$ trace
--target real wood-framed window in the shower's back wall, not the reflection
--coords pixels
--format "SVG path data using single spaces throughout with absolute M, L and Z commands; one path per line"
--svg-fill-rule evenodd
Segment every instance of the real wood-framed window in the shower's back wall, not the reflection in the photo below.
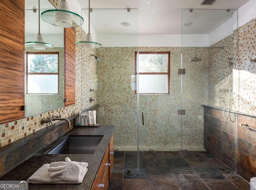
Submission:
M 137 93 L 137 90 L 140 94 L 170 93 L 169 51 L 135 52 L 135 75 L 137 75 L 137 71 L 139 77 L 138 88 L 135 90 L 135 93 Z

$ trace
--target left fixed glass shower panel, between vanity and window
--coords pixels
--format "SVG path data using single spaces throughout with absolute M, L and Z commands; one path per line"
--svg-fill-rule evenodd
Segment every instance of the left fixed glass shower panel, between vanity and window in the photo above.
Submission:
M 108 18 L 109 22 L 103 22 L 102 18 Z M 98 123 L 116 126 L 114 157 L 123 163 L 124 156 L 126 159 L 124 168 L 117 168 L 114 172 L 126 173 L 129 170 L 134 173 L 138 171 L 137 79 L 134 72 L 134 53 L 138 51 L 138 10 L 93 9 L 90 19 L 97 33 L 97 42 L 102 44 L 102 48 L 93 51 L 100 59 L 96 91 Z M 123 26 L 122 22 L 129 22 L 130 26 Z

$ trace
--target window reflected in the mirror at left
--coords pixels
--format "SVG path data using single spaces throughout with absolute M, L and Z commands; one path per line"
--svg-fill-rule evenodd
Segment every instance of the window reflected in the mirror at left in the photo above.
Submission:
M 27 93 L 59 93 L 59 52 L 27 52 Z

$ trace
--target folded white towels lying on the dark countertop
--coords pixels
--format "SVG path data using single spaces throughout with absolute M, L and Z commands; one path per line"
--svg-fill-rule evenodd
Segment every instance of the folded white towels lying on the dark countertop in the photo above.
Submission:
M 69 159 L 69 158 L 68 158 Z M 67 159 L 67 161 L 68 161 Z M 66 160 L 66 159 L 65 159 Z M 70 160 L 70 159 L 69 159 Z M 54 163 L 54 162 L 52 162 Z M 52 164 L 51 163 L 51 164 Z M 64 164 L 64 163 L 58 163 Z M 60 166 L 57 166 L 56 162 L 53 164 L 54 166 L 60 169 Z M 86 162 L 76 162 L 69 161 L 66 162 L 62 167 L 62 170 L 56 170 L 57 168 L 51 168 L 50 170 L 54 170 L 52 172 L 48 172 L 50 168 L 50 164 L 42 165 L 30 178 L 28 178 L 28 182 L 30 183 L 82 183 L 86 172 L 88 171 L 88 163 Z

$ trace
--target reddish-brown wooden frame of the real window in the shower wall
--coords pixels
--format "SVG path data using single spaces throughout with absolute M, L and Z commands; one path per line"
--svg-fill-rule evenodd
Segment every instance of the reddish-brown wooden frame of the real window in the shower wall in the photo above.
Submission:
M 167 72 L 165 73 L 137 73 L 137 55 L 140 54 L 167 54 Z M 167 75 L 167 93 L 139 93 L 140 95 L 166 95 L 170 94 L 170 51 L 135 51 L 135 75 Z M 135 85 L 135 94 L 137 94 L 137 85 Z

